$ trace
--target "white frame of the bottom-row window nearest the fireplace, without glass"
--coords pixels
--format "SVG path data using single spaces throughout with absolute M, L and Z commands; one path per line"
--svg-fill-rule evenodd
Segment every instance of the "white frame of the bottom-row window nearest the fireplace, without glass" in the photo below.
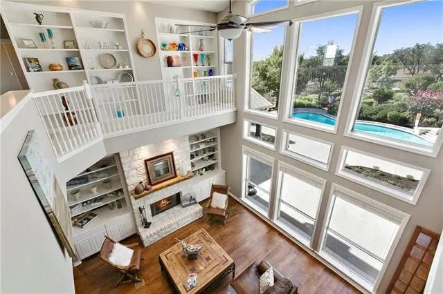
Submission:
M 267 164 L 271 166 L 271 186 L 269 188 L 269 207 L 268 211 L 265 211 L 262 207 L 257 206 L 255 203 L 251 202 L 249 199 L 246 198 L 246 173 L 247 173 L 247 157 L 252 157 L 253 159 L 262 162 L 263 164 Z M 249 206 L 257 210 L 259 213 L 262 214 L 264 217 L 269 218 L 269 215 L 271 213 L 271 205 L 272 205 L 272 195 L 273 195 L 273 173 L 274 173 L 274 158 L 265 155 L 263 153 L 260 153 L 256 150 L 253 150 L 252 148 L 248 148 L 247 146 L 242 145 L 242 200 L 246 202 Z

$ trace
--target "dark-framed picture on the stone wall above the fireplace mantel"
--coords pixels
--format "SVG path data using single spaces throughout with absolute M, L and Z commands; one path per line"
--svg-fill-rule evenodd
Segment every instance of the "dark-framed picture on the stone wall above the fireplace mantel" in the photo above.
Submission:
M 177 177 L 172 152 L 145 159 L 147 180 L 151 186 Z

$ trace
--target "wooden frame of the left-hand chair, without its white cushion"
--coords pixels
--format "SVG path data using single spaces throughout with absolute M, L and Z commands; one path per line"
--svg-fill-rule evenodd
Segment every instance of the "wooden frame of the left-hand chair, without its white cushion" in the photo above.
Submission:
M 105 236 L 105 242 L 103 242 L 102 248 L 100 249 L 100 258 L 105 260 L 105 262 L 107 262 L 114 268 L 117 268 L 118 271 L 120 271 L 116 287 L 120 284 L 128 282 L 143 282 L 143 279 L 138 277 L 138 271 L 140 271 L 140 263 L 141 260 L 143 260 L 143 258 L 141 258 L 141 250 L 140 249 L 134 250 L 134 253 L 132 253 L 131 262 L 129 263 L 128 266 L 118 266 L 109 261 L 109 255 L 111 254 L 112 249 L 114 248 L 114 244 L 116 243 L 117 242 L 111 239 L 110 237 Z M 138 244 L 137 243 L 130 244 L 126 247 L 132 247 L 135 245 Z

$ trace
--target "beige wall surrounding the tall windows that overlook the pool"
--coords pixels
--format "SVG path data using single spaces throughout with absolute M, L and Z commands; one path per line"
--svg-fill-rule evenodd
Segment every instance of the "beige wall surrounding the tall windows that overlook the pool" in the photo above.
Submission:
M 237 122 L 228 126 L 221 128 L 221 157 L 223 161 L 221 163 L 221 168 L 226 170 L 226 183 L 231 187 L 232 192 L 235 195 L 240 196 L 242 187 L 242 144 L 260 151 L 266 155 L 275 158 L 275 166 L 278 161 L 284 161 L 287 164 L 296 166 L 302 170 L 306 170 L 308 173 L 317 175 L 327 180 L 327 185 L 325 188 L 325 197 L 323 197 L 323 202 L 320 206 L 320 217 L 318 218 L 318 223 L 321 224 L 325 217 L 325 209 L 331 189 L 331 184 L 334 182 L 341 186 L 345 186 L 350 190 L 354 190 L 357 193 L 370 197 L 378 202 L 387 204 L 394 208 L 397 208 L 405 213 L 411 215 L 408 225 L 401 236 L 399 245 L 397 246 L 388 268 L 381 280 L 381 284 L 377 293 L 384 293 L 390 279 L 397 268 L 399 260 L 404 253 L 404 250 L 408 244 L 410 236 L 413 234 L 415 226 L 423 226 L 434 232 L 440 232 L 443 228 L 443 151 L 440 150 L 440 154 L 436 157 L 427 157 L 424 155 L 417 155 L 414 153 L 408 153 L 406 151 L 397 150 L 395 148 L 389 148 L 386 146 L 381 146 L 379 144 L 373 144 L 370 142 L 360 141 L 357 139 L 352 139 L 350 137 L 345 137 L 343 135 L 345 131 L 345 121 L 347 119 L 347 114 L 350 113 L 352 92 L 356 83 L 356 76 L 359 72 L 360 60 L 363 52 L 363 46 L 365 44 L 365 36 L 368 31 L 368 23 L 370 15 L 372 12 L 373 1 L 318 1 L 314 3 L 309 3 L 303 6 L 289 7 L 285 10 L 280 10 L 277 12 L 271 12 L 269 14 L 264 14 L 257 17 L 252 17 L 253 21 L 274 21 L 281 19 L 300 19 L 301 17 L 307 17 L 314 14 L 321 14 L 325 12 L 331 12 L 336 10 L 341 10 L 345 8 L 351 8 L 356 6 L 364 6 L 363 15 L 361 18 L 361 25 L 359 28 L 359 37 L 356 39 L 356 46 L 354 50 L 354 60 L 350 64 L 350 75 L 347 81 L 347 88 L 345 89 L 345 97 L 343 97 L 343 105 L 341 110 L 341 117 L 338 119 L 338 132 L 337 135 L 331 133 L 325 133 L 319 130 L 314 130 L 311 128 L 305 128 L 302 126 L 294 126 L 293 124 L 287 124 L 282 121 L 283 115 L 278 117 L 278 120 L 268 119 L 260 117 L 257 115 L 251 115 L 244 113 L 244 100 L 246 99 L 246 87 L 248 81 L 246 76 L 248 75 L 248 46 L 246 46 L 246 34 L 239 37 L 234 41 L 234 72 L 237 73 L 237 79 L 235 82 L 235 95 L 237 102 Z M 245 13 L 245 2 L 244 1 L 234 1 L 233 2 L 233 12 L 238 14 Z M 226 15 L 225 12 L 220 12 L 217 14 L 217 19 L 221 19 Z M 284 57 L 285 58 L 285 57 Z M 284 65 L 285 66 L 285 65 Z M 282 84 L 282 88 L 288 85 Z M 291 86 L 291 85 L 289 85 Z M 280 107 L 282 105 L 280 104 Z M 253 144 L 250 141 L 246 141 L 242 138 L 242 123 L 243 119 L 249 119 L 252 121 L 257 121 L 259 123 L 265 124 L 266 126 L 276 127 L 278 134 L 284 128 L 286 130 L 292 130 L 293 132 L 300 133 L 302 135 L 307 135 L 309 137 L 317 137 L 325 141 L 334 142 L 334 151 L 332 154 L 332 163 L 329 167 L 329 172 L 319 170 L 308 164 L 303 164 L 301 161 L 296 159 L 291 159 L 278 152 L 273 152 L 257 144 Z M 239 140 L 240 143 L 239 144 Z M 402 202 L 399 199 L 395 199 L 383 193 L 379 193 L 376 190 L 361 186 L 354 182 L 350 182 L 347 179 L 343 179 L 334 175 L 334 170 L 338 164 L 338 155 L 341 146 L 348 146 L 355 148 L 357 150 L 362 150 L 367 153 L 373 153 L 375 155 L 380 155 L 387 158 L 392 158 L 397 161 L 406 162 L 408 164 L 413 164 L 415 166 L 421 166 L 423 168 L 428 168 L 431 170 L 431 175 L 429 175 L 426 182 L 426 186 L 422 191 L 417 204 L 415 206 Z M 276 150 L 280 150 L 280 135 L 276 142 Z M 275 173 L 274 173 L 275 175 Z M 275 186 L 275 185 L 274 185 Z M 275 195 L 271 195 L 275 197 Z M 318 244 L 320 235 L 316 234 L 313 237 L 314 247 Z

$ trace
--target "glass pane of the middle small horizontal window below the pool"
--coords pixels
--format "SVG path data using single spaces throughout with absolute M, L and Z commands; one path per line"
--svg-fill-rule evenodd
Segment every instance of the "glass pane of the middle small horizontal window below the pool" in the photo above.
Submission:
M 295 135 L 293 133 L 286 134 L 287 141 L 286 146 L 284 147 L 285 151 L 289 152 L 290 155 L 297 159 L 309 159 L 308 163 L 314 164 L 315 166 L 320 166 L 321 168 L 327 167 L 329 153 L 332 148 L 331 144 Z

